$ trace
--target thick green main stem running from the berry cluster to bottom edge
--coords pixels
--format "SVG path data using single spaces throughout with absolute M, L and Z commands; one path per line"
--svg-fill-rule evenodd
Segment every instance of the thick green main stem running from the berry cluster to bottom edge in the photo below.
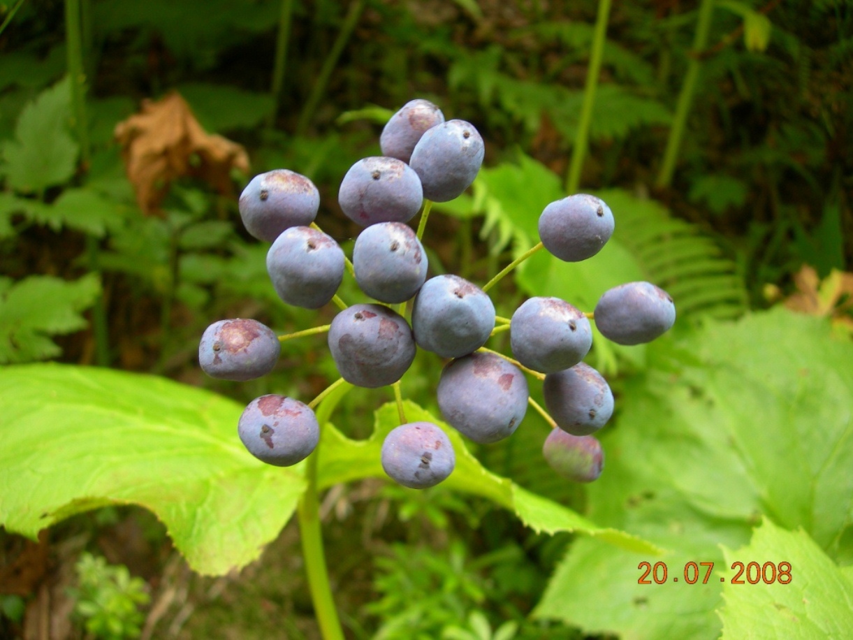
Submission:
M 322 404 L 317 410 L 317 422 L 320 430 L 326 428 L 328 418 L 334 406 L 352 388 L 342 379 L 327 388 Z M 323 395 L 323 394 L 321 394 Z M 319 398 L 319 396 L 318 396 Z M 302 538 L 302 554 L 305 558 L 305 573 L 308 575 L 308 586 L 311 592 L 311 602 L 314 603 L 314 613 L 317 624 L 320 625 L 323 640 L 344 640 L 344 631 L 340 627 L 338 611 L 334 607 L 332 588 L 328 583 L 326 555 L 322 544 L 320 527 L 320 503 L 317 497 L 317 458 L 320 455 L 320 445 L 305 461 L 305 493 L 299 500 L 297 515 L 299 517 L 299 535 Z

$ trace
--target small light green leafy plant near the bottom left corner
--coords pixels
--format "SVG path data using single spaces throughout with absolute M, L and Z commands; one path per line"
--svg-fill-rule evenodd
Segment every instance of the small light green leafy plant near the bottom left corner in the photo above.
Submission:
M 70 590 L 76 598 L 74 615 L 87 633 L 104 640 L 139 637 L 145 616 L 140 605 L 150 596 L 145 581 L 131 578 L 124 565 L 110 565 L 100 556 L 84 553 L 75 566 L 77 587 Z

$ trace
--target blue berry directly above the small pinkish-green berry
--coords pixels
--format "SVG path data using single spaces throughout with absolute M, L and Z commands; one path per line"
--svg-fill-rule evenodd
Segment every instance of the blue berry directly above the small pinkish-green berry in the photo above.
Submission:
M 589 364 L 546 375 L 543 395 L 554 422 L 572 435 L 595 433 L 613 414 L 610 386 Z

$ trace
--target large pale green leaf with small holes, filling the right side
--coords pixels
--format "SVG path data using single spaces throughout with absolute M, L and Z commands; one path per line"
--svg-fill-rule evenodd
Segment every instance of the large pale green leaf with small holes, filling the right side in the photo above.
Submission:
M 689 561 L 725 566 L 719 545 L 746 544 L 761 515 L 849 558 L 853 345 L 823 319 L 776 309 L 649 352 L 668 370 L 626 381 L 590 519 L 669 549 L 670 577 Z M 656 560 L 578 541 L 537 614 L 624 637 L 719 635 L 718 573 L 707 585 L 639 585 L 641 561 Z

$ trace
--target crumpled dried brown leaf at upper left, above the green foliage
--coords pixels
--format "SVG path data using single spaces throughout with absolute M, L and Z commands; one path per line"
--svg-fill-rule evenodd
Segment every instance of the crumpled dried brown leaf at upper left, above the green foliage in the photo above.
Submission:
M 146 215 L 160 212 L 170 184 L 179 177 L 200 178 L 230 195 L 231 171 L 249 172 L 246 149 L 202 129 L 177 91 L 157 102 L 143 101 L 141 112 L 119 122 L 114 134 L 136 202 Z

